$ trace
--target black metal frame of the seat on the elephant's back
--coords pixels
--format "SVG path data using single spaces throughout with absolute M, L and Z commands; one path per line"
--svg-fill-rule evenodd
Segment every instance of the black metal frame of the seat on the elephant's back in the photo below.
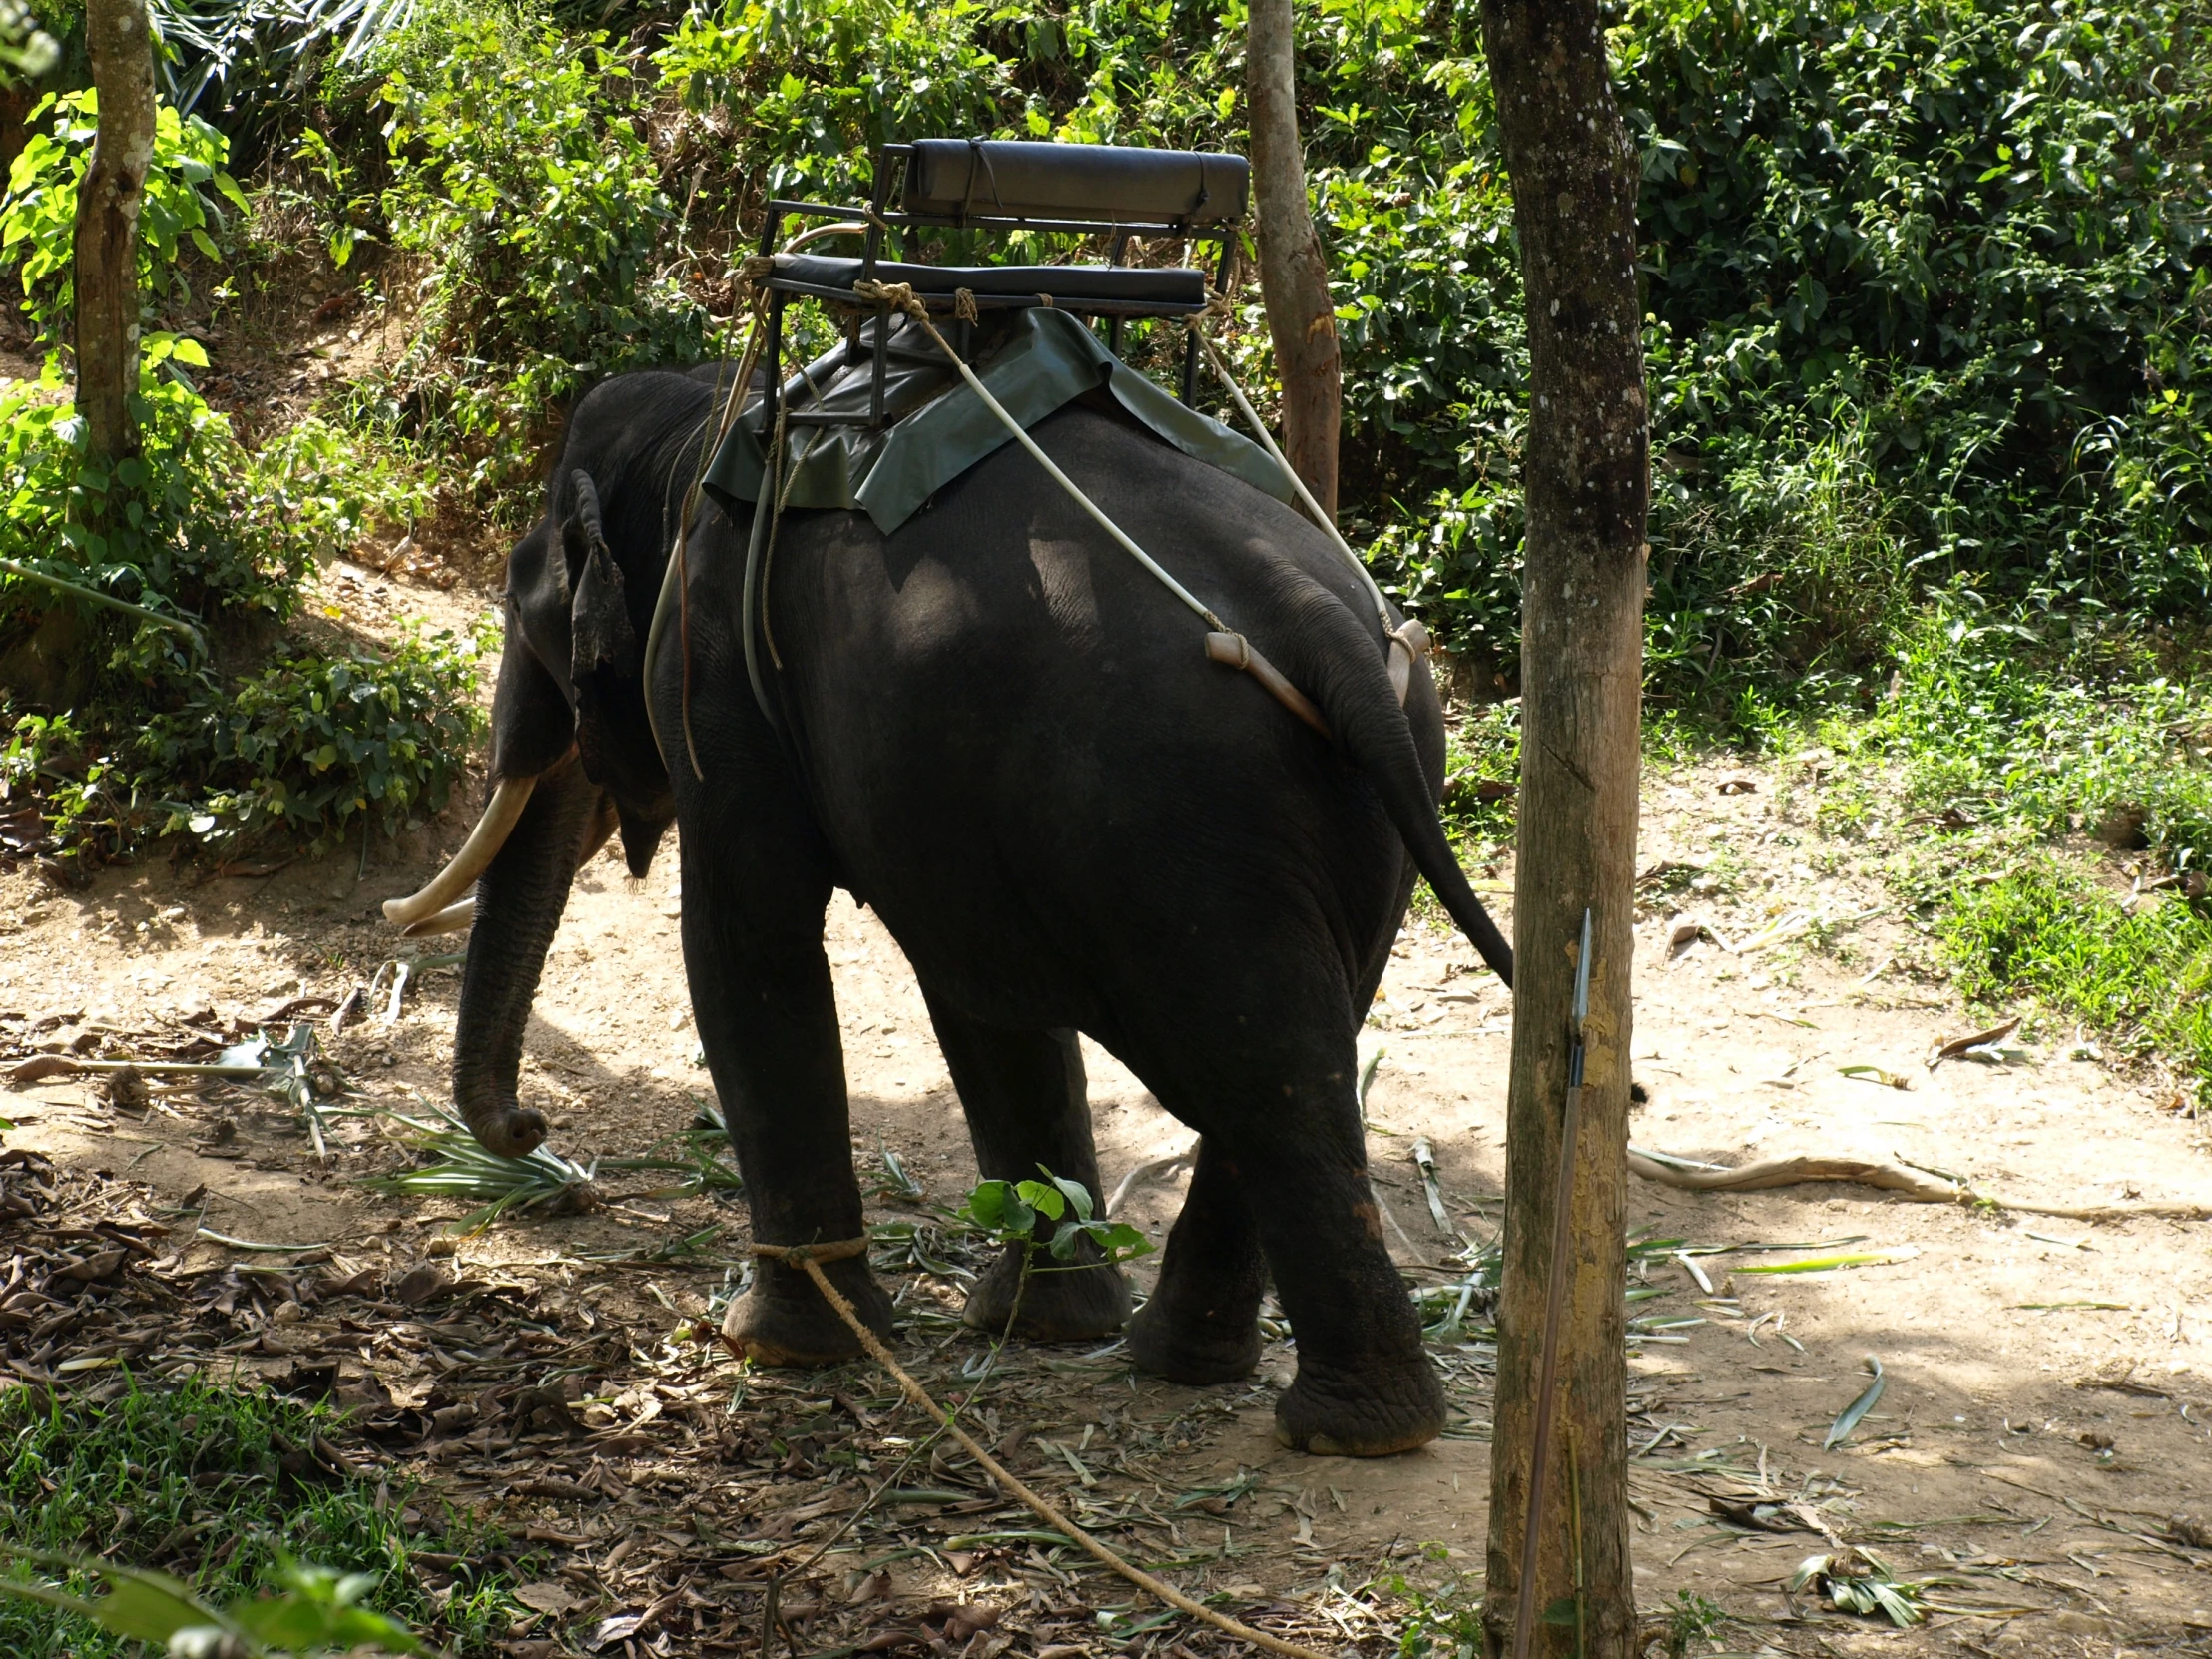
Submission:
M 891 232 L 909 232 L 916 228 L 947 228 L 947 230 L 1048 230 L 1048 232 L 1071 232 L 1071 234 L 1108 234 L 1106 265 L 1115 268 L 1128 252 L 1130 237 L 1183 237 L 1190 241 L 1214 241 L 1221 252 L 1217 259 L 1214 285 L 1223 292 L 1228 290 L 1230 261 L 1237 257 L 1237 232 L 1241 219 L 1225 219 L 1212 223 L 1186 223 L 1179 219 L 1084 219 L 1071 212 L 1071 217 L 1006 217 L 1006 215 L 982 215 L 982 212 L 960 212 L 960 215 L 933 215 L 933 212 L 902 212 L 891 208 L 891 184 L 894 175 L 905 177 L 907 164 L 914 159 L 911 144 L 885 144 L 876 150 L 876 181 L 869 192 L 867 208 L 838 208 L 827 201 L 799 201 L 772 197 L 768 201 L 768 212 L 761 223 L 761 254 L 774 254 L 776 228 L 783 223 L 785 215 L 812 217 L 812 219 L 856 219 L 865 215 L 865 248 L 860 254 L 860 272 L 856 281 L 874 281 L 876 265 L 885 257 L 885 237 Z M 902 261 L 920 263 L 920 261 Z M 1071 265 L 1068 270 L 1082 270 L 1082 265 Z M 863 305 L 849 292 L 834 288 L 814 288 L 810 283 L 783 281 L 770 274 L 763 283 L 768 290 L 768 330 L 761 343 L 761 361 L 768 369 L 768 387 L 761 403 L 761 434 L 774 431 L 776 425 L 776 403 L 783 396 L 783 307 L 792 299 L 821 299 L 841 305 Z M 931 310 L 951 312 L 956 301 L 951 296 L 925 294 L 922 303 Z M 1192 310 L 1186 305 L 1161 305 L 1146 301 L 1113 301 L 1113 303 L 1084 303 L 1082 299 L 1042 294 L 975 294 L 973 303 L 978 310 L 1029 310 L 1035 305 L 1053 305 L 1064 312 L 1075 312 L 1077 316 L 1106 316 L 1106 347 L 1119 356 L 1121 354 L 1121 323 L 1130 316 L 1190 316 Z M 847 325 L 845 349 L 847 361 L 858 347 L 863 316 L 854 312 Z M 953 325 L 951 345 L 964 358 L 971 343 L 971 323 L 964 319 Z M 891 307 L 889 303 L 876 305 L 876 345 L 872 363 L 872 387 L 865 416 L 841 416 L 825 414 L 816 409 L 785 409 L 783 422 L 790 427 L 883 427 L 883 392 L 885 376 L 889 372 L 889 336 L 891 336 Z M 1183 403 L 1192 403 L 1199 385 L 1199 336 L 1192 330 L 1190 341 L 1183 349 Z M 774 460 L 770 462 L 774 467 Z

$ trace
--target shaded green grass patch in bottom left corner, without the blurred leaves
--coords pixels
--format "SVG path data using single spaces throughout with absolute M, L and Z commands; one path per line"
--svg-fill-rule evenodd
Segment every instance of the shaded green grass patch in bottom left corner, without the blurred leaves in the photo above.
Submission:
M 230 1601 L 263 1584 L 279 1553 L 378 1579 L 367 1604 L 458 1652 L 489 1652 L 520 1608 L 498 1573 L 471 1573 L 502 1537 L 411 1480 L 332 1475 L 314 1440 L 330 1407 L 186 1380 L 106 1400 L 0 1394 L 0 1542 L 153 1566 Z M 460 1557 L 447 1573 L 416 1555 Z M 425 1584 L 425 1571 L 438 1593 Z M 82 1579 L 66 1588 L 86 1595 Z M 0 1599 L 11 1659 L 124 1659 L 139 1644 L 73 1613 Z

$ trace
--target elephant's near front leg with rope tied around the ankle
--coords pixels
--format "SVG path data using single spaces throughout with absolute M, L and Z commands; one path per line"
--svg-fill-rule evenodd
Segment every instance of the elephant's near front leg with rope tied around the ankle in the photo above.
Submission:
M 730 768 L 730 770 L 721 770 Z M 684 969 L 761 1243 L 836 1243 L 865 1234 L 852 1172 L 845 1053 L 823 956 L 830 874 L 787 785 L 761 770 L 690 785 L 684 812 Z M 867 1254 L 825 1265 L 878 1334 L 891 1303 Z M 830 1365 L 860 1338 L 805 1270 L 761 1259 L 730 1305 L 723 1338 L 761 1365 Z

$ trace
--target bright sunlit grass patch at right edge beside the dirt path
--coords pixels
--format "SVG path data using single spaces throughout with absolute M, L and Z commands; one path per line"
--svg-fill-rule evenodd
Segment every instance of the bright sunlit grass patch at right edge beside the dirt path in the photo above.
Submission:
M 2037 863 L 1969 887 L 1938 920 L 1973 1002 L 2035 998 L 2135 1051 L 2163 1053 L 2212 1099 L 2212 920 L 2190 900 L 2124 911 L 2079 869 Z

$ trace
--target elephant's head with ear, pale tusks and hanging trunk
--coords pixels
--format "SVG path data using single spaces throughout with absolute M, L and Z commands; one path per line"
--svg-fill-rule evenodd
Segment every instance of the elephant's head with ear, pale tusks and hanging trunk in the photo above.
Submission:
M 626 374 L 577 405 L 546 513 L 507 564 L 491 799 L 453 860 L 385 905 L 409 936 L 473 927 L 453 1104 L 476 1139 L 509 1157 L 546 1133 L 515 1084 L 568 887 L 617 832 L 630 874 L 644 876 L 675 816 L 641 657 L 710 403 L 699 378 Z

